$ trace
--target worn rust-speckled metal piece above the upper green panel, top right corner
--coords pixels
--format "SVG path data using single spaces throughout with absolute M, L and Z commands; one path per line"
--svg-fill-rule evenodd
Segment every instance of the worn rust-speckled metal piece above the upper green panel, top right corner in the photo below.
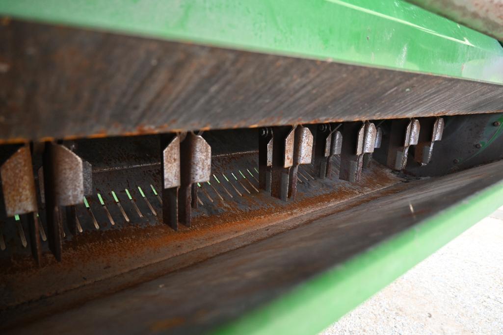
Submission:
M 406 0 L 503 41 L 502 0 Z

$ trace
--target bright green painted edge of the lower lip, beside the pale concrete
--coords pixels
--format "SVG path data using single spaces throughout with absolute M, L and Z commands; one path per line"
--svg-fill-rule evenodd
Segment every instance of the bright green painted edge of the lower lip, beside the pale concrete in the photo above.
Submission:
M 304 282 L 213 333 L 317 333 L 496 210 L 501 206 L 501 199 L 503 183 L 498 183 Z

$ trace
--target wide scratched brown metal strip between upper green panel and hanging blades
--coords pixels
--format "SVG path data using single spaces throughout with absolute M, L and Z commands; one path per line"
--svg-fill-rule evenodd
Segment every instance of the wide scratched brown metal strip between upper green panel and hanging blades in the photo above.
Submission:
M 484 82 L 16 21 L 0 38 L 2 141 L 502 110 Z

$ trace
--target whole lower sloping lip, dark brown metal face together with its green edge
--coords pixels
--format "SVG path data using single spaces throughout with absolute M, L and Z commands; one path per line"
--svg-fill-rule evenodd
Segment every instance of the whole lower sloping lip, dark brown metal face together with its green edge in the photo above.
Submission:
M 218 332 L 315 333 L 500 206 L 500 184 L 477 202 L 470 197 L 500 182 L 502 165 L 311 213 L 309 224 L 14 331 L 90 333 L 106 319 L 109 331 L 202 333 L 234 321 Z M 484 212 L 470 211 L 475 205 Z

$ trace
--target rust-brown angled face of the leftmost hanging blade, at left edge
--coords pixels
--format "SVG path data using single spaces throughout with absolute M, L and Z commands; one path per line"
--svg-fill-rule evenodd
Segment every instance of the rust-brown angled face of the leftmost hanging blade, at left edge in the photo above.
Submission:
M 7 216 L 37 212 L 30 147 L 20 147 L 2 164 L 0 174 Z

